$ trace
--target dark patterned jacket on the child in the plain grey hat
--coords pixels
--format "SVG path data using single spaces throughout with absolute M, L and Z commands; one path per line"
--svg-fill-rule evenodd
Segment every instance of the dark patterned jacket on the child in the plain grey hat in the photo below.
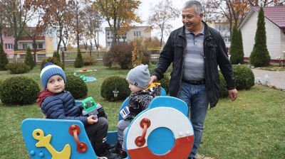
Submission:
M 151 100 L 159 96 L 161 92 L 160 84 L 152 83 L 150 87 L 139 92 L 130 94 L 129 110 L 132 116 L 137 116 L 141 111 L 147 109 Z

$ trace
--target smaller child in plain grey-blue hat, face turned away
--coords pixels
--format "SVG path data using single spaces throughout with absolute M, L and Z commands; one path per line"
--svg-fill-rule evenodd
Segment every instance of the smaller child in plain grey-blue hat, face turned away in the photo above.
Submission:
M 118 122 L 118 143 L 111 149 L 112 153 L 118 153 L 119 158 L 126 158 L 125 134 L 130 122 L 141 111 L 147 109 L 151 100 L 160 95 L 161 88 L 158 83 L 150 84 L 150 71 L 147 65 L 138 65 L 128 72 L 127 78 L 131 91 L 128 104 L 130 116 Z

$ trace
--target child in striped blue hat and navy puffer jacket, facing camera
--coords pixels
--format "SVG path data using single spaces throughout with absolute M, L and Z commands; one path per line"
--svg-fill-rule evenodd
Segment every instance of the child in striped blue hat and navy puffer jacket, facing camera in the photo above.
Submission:
M 95 138 L 95 153 L 98 157 L 115 158 L 106 147 L 108 133 L 107 119 L 94 116 L 82 116 L 83 106 L 75 105 L 70 92 L 64 91 L 66 75 L 61 67 L 51 62 L 46 63 L 41 70 L 41 84 L 43 91 L 38 94 L 37 103 L 48 119 L 68 119 L 81 121 L 89 138 Z

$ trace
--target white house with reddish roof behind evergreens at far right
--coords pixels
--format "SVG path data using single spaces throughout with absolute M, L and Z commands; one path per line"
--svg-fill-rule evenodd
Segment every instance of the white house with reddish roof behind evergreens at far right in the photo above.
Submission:
M 249 60 L 254 48 L 258 12 L 259 7 L 252 7 L 244 21 L 239 25 L 242 31 L 245 60 Z M 264 7 L 264 21 L 267 49 L 271 57 L 271 63 L 276 63 L 279 62 L 279 57 L 284 56 L 285 51 L 285 6 Z

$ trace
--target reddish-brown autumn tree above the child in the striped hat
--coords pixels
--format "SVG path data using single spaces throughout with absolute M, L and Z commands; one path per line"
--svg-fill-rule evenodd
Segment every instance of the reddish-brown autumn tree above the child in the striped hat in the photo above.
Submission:
M 56 51 L 58 52 L 63 40 L 63 31 L 65 26 L 70 26 L 73 20 L 74 0 L 45 0 L 46 3 L 41 5 L 41 9 L 45 12 L 43 15 L 43 26 L 46 26 L 50 32 L 56 31 L 58 44 Z M 56 6 L 56 7 L 55 7 Z

